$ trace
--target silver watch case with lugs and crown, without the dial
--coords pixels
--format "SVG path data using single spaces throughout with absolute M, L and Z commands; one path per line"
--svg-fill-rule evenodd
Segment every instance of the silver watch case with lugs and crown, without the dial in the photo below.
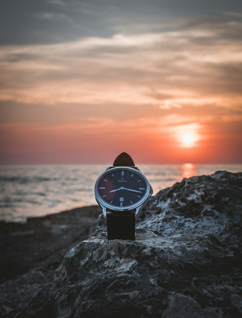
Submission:
M 138 167 L 136 167 L 136 168 L 137 169 L 134 169 L 134 168 L 131 168 L 131 167 L 114 167 L 114 168 L 110 169 L 110 167 L 107 167 L 107 169 L 97 178 L 97 181 L 96 181 L 95 187 L 94 187 L 94 194 L 95 194 L 95 198 L 97 200 L 97 203 L 100 205 L 100 207 L 103 210 L 103 217 L 104 218 L 107 217 L 107 209 L 108 209 L 112 213 L 121 212 L 121 211 L 127 212 L 127 211 L 131 211 L 131 210 L 135 210 L 135 218 L 138 219 L 139 211 L 143 208 L 143 206 L 145 205 L 145 202 L 148 200 L 148 198 L 153 194 L 153 189 L 151 188 L 151 185 L 150 185 L 149 181 L 143 175 L 143 173 L 140 171 L 140 169 Z M 138 175 L 140 175 L 145 181 L 146 191 L 145 191 L 144 197 L 140 201 L 138 201 L 136 204 L 129 205 L 125 209 L 122 208 L 122 207 L 118 207 L 117 206 L 117 207 L 115 207 L 115 210 L 114 210 L 114 206 L 111 205 L 111 204 L 108 204 L 107 202 L 105 202 L 102 199 L 102 197 L 99 195 L 99 193 L 97 191 L 97 185 L 98 185 L 99 180 L 103 176 L 105 176 L 106 174 L 110 173 L 110 171 L 114 171 L 114 170 L 117 170 L 117 169 L 128 169 L 128 170 L 134 171 L 135 173 L 138 173 Z

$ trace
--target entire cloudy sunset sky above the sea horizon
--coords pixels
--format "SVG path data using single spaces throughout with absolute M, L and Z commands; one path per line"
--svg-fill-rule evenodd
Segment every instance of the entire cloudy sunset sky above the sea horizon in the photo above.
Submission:
M 2 0 L 0 163 L 242 162 L 242 2 Z

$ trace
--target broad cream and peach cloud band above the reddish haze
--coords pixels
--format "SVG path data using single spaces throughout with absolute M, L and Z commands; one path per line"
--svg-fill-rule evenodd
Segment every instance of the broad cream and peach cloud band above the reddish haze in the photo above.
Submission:
M 1 100 L 120 103 L 162 109 L 241 102 L 242 44 L 227 22 L 160 33 L 3 46 Z M 242 24 L 240 25 L 240 28 Z M 238 25 L 230 26 L 237 32 Z M 231 99 L 233 96 L 233 100 Z

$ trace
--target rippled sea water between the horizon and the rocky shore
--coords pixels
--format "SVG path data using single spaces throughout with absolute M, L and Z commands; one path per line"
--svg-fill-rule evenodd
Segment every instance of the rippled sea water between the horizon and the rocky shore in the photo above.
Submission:
M 25 222 L 85 205 L 97 204 L 94 184 L 104 164 L 0 166 L 0 220 Z M 242 164 L 140 164 L 154 194 L 183 178 L 217 170 L 242 171 Z

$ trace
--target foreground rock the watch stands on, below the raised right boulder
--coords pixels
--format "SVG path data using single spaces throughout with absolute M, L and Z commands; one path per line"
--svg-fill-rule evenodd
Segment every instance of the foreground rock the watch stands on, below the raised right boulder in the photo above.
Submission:
M 13 317 L 239 317 L 241 261 L 212 234 L 102 233 L 71 249 L 53 283 Z

